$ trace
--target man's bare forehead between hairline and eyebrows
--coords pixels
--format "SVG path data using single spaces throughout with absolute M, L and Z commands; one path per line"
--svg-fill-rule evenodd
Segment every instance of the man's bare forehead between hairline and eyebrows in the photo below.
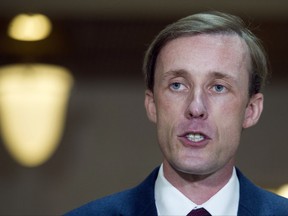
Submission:
M 220 71 L 248 76 L 250 54 L 247 44 L 236 34 L 200 34 L 168 42 L 156 61 L 158 70 Z M 200 71 L 199 71 L 200 70 Z M 244 73 L 243 72 L 243 73 Z

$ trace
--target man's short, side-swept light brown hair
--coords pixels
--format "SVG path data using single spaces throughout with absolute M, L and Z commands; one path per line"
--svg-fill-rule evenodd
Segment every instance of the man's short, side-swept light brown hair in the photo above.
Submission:
M 198 13 L 182 18 L 168 25 L 155 37 L 146 51 L 143 63 L 147 89 L 153 91 L 157 56 L 169 41 L 182 36 L 215 33 L 236 34 L 246 42 L 252 64 L 251 71 L 249 71 L 249 95 L 260 92 L 268 74 L 266 52 L 260 40 L 248 29 L 241 18 L 222 12 Z

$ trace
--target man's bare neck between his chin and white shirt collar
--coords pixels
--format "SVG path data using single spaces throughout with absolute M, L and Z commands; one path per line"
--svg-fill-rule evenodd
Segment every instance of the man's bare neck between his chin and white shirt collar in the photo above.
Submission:
M 231 165 L 230 165 L 231 164 Z M 229 181 L 234 161 L 224 168 L 205 175 L 194 175 L 174 169 L 167 161 L 163 162 L 165 178 L 192 202 L 201 205 L 214 196 Z

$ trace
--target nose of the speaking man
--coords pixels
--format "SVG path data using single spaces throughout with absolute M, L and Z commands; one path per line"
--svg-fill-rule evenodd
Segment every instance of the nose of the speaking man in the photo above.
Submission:
M 188 119 L 207 119 L 207 99 L 201 90 L 191 92 L 187 98 L 185 116 Z

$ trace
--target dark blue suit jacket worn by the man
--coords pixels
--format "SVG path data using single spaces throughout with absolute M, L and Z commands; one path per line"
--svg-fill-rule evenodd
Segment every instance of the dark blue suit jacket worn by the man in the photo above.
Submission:
M 92 201 L 67 216 L 97 215 L 97 216 L 156 216 L 154 185 L 159 168 L 155 169 L 140 185 L 135 188 Z M 265 191 L 243 176 L 237 170 L 240 182 L 240 201 L 238 215 L 240 216 L 287 216 L 288 199 Z

